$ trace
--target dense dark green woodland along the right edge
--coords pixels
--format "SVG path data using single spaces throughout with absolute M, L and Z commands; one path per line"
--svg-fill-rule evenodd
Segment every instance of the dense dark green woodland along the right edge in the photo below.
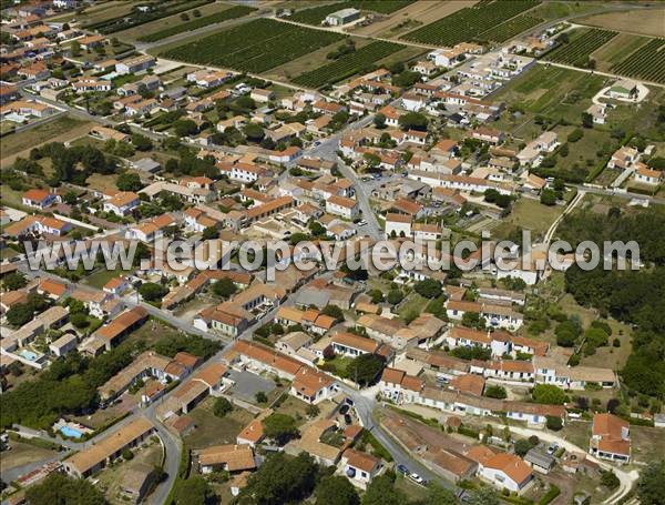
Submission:
M 574 265 L 566 271 L 566 289 L 577 303 L 595 307 L 601 316 L 635 325 L 633 351 L 622 372 L 624 383 L 638 393 L 664 398 L 665 210 L 628 215 L 622 215 L 618 209 L 611 209 L 607 215 L 580 213 L 566 219 L 560 230 L 573 246 L 581 240 L 598 244 L 634 240 L 640 244 L 640 260 L 651 267 L 605 271 L 600 265 L 584 271 Z M 595 333 L 594 342 L 603 342 Z

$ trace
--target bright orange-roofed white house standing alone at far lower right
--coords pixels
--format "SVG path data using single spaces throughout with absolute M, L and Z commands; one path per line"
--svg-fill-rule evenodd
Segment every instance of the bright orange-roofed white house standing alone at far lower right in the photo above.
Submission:
M 617 463 L 631 461 L 631 425 L 614 414 L 595 414 L 589 453 Z

